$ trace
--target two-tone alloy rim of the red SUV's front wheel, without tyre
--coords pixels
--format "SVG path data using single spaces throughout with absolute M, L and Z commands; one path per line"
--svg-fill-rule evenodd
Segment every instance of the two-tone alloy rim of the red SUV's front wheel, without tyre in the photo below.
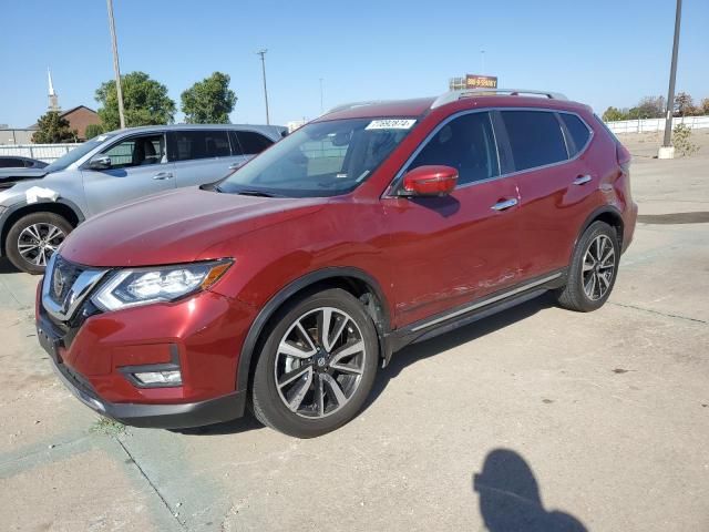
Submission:
M 366 357 L 362 331 L 349 314 L 333 307 L 309 310 L 278 344 L 274 368 L 278 395 L 298 416 L 330 416 L 357 391 Z

